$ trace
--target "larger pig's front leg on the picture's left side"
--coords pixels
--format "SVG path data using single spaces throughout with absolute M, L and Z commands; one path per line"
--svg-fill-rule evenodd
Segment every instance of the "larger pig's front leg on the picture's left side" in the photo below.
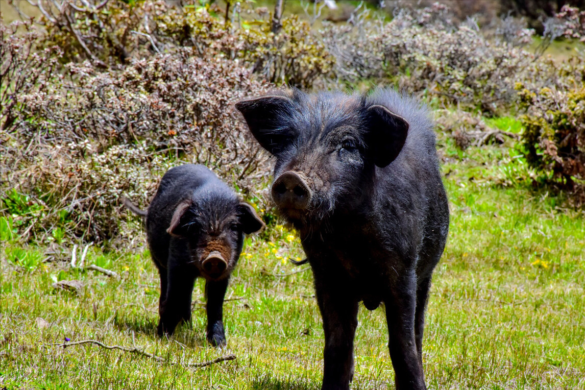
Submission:
M 348 390 L 353 379 L 358 301 L 339 279 L 318 274 L 315 272 L 315 292 L 325 331 L 321 389 Z

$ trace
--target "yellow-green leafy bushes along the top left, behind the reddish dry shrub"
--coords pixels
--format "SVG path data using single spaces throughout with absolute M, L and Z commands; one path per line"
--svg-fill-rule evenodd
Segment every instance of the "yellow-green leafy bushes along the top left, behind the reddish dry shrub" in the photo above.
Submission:
M 297 16 L 281 20 L 278 33 L 263 16 L 245 28 L 212 15 L 209 6 L 173 6 L 163 0 L 54 2 L 42 11 L 44 46 L 59 46 L 63 61 L 84 60 L 105 68 L 174 47 L 193 47 L 197 56 L 239 60 L 276 84 L 311 88 L 331 73 L 335 58 Z

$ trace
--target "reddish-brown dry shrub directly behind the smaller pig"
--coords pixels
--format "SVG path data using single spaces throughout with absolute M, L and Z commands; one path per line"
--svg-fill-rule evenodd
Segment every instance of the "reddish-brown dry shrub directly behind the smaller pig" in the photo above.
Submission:
M 119 196 L 146 206 L 161 174 L 184 162 L 253 191 L 247 178 L 268 168 L 231 104 L 267 84 L 235 61 L 192 51 L 121 70 L 70 63 L 59 82 L 19 96 L 22 121 L 2 132 L 2 187 L 43 205 L 22 216 L 22 231 L 38 240 L 56 228 L 93 241 L 129 234 Z

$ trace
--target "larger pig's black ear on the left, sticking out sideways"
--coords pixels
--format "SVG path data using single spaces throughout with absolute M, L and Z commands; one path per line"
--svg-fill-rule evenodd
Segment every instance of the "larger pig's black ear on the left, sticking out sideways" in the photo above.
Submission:
M 290 129 L 281 127 L 283 118 L 290 116 L 292 101 L 286 96 L 269 95 L 242 100 L 236 108 L 246 119 L 253 136 L 264 149 L 276 154 L 292 139 Z

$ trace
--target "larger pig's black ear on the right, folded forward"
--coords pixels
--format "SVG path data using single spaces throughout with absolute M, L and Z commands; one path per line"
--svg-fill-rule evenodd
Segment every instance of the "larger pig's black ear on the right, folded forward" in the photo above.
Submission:
M 408 122 L 402 116 L 391 112 L 382 105 L 372 105 L 367 113 L 367 148 L 374 164 L 386 167 L 402 150 L 408 134 Z

